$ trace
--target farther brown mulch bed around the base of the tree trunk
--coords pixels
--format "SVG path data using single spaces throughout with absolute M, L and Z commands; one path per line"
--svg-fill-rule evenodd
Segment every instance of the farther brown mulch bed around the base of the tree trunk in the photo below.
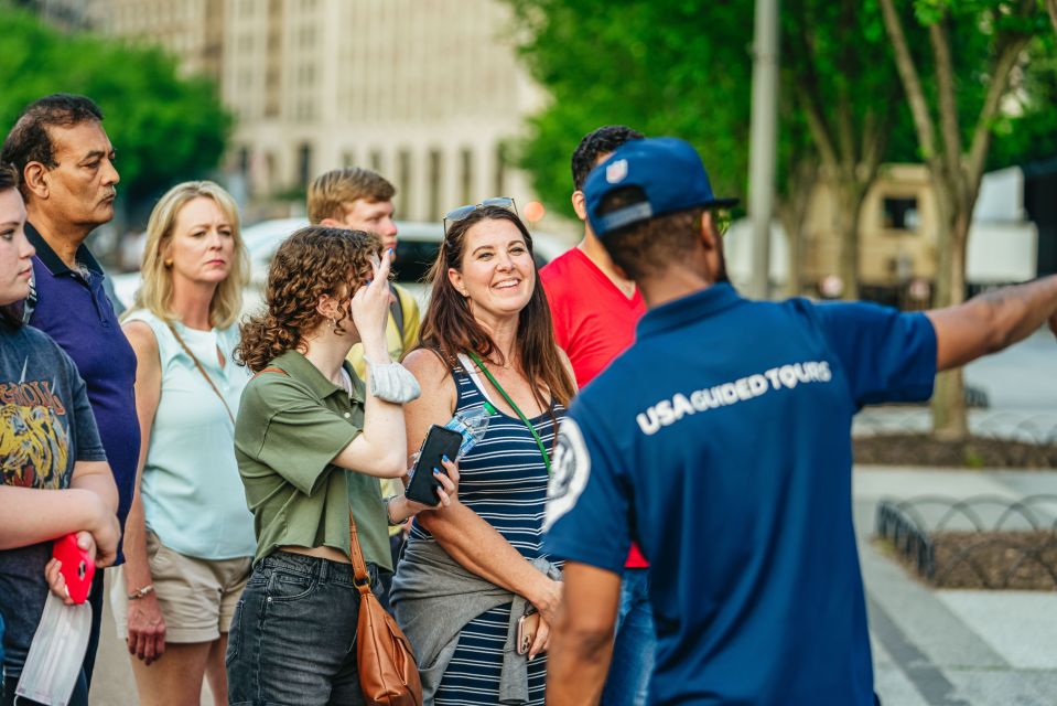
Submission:
M 878 466 L 941 466 L 947 468 L 1057 468 L 1057 445 L 1037 446 L 972 437 L 943 441 L 925 434 L 855 437 L 855 463 Z

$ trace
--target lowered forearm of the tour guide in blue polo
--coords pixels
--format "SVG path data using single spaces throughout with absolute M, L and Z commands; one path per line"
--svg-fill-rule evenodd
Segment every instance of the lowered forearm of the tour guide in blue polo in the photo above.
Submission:
M 587 564 L 568 561 L 564 579 L 547 662 L 547 703 L 597 704 L 613 656 L 621 577 Z

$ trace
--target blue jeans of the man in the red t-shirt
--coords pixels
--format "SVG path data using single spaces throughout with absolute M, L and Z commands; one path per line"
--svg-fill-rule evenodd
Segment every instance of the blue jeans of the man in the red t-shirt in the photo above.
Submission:
M 602 692 L 602 706 L 646 704 L 656 651 L 657 633 L 649 605 L 649 569 L 624 569 L 613 662 Z

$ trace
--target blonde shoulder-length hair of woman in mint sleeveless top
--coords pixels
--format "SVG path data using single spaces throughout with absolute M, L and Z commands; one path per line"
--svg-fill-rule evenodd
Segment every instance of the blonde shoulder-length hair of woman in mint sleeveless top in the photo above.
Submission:
M 172 268 L 165 267 L 164 250 L 173 236 L 180 211 L 195 199 L 211 199 L 231 224 L 235 257 L 231 271 L 213 292 L 209 302 L 209 323 L 226 329 L 235 323 L 242 309 L 242 287 L 249 282 L 249 256 L 239 231 L 238 206 L 229 193 L 212 181 L 185 181 L 162 196 L 147 222 L 147 244 L 143 247 L 143 284 L 136 292 L 132 310 L 145 309 L 164 320 L 177 319 L 170 310 L 173 297 Z

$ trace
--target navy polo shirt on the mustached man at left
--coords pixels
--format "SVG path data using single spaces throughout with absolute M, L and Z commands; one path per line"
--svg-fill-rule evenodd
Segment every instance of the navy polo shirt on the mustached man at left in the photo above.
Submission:
M 32 224 L 25 236 L 36 255 L 33 281 L 36 301 L 30 325 L 47 333 L 77 364 L 88 388 L 88 402 L 99 427 L 103 448 L 118 486 L 118 520 L 132 505 L 140 427 L 136 416 L 136 353 L 118 324 L 103 288 L 103 268 L 84 245 L 73 270 L 63 263 Z M 119 555 L 119 560 L 123 560 Z

